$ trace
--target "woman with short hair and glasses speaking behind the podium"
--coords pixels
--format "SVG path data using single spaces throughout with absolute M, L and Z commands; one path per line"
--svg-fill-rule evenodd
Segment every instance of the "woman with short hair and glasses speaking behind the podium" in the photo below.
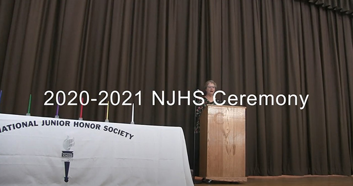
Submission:
M 195 109 L 195 117 L 196 117 L 196 125 L 195 125 L 195 166 L 194 166 L 194 175 L 199 175 L 199 159 L 200 159 L 200 116 L 201 113 L 203 111 L 203 109 L 208 105 L 208 104 L 213 104 L 215 105 L 215 101 L 217 103 L 220 103 L 220 101 L 217 100 L 213 100 L 213 94 L 216 91 L 217 88 L 217 84 L 212 81 L 209 80 L 205 83 L 205 87 L 204 90 L 206 92 L 206 95 L 203 96 L 203 100 L 204 103 L 200 106 L 196 105 L 196 109 Z M 196 100 L 197 103 L 201 103 L 202 99 L 197 99 Z

